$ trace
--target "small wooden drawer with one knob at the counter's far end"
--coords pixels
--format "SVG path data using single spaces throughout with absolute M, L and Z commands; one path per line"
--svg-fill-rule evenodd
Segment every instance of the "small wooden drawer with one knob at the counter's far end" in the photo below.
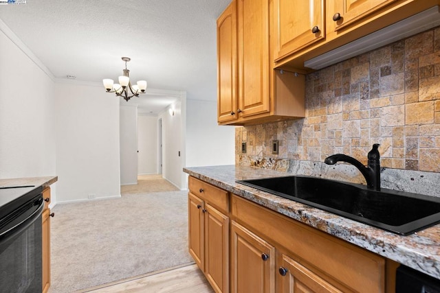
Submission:
M 214 187 L 191 176 L 188 178 L 188 187 L 192 194 L 195 194 L 202 200 L 206 200 L 212 206 L 223 211 L 223 213 L 229 213 L 228 191 Z

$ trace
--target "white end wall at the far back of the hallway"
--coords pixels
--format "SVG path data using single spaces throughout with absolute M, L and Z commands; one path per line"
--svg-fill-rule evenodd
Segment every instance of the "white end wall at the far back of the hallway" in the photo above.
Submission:
M 157 116 L 137 115 L 137 174 L 157 174 Z

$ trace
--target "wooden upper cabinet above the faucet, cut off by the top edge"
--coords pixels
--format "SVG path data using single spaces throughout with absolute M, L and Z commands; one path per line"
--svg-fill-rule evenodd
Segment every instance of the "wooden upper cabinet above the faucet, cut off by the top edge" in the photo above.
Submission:
M 274 1 L 273 18 L 271 19 L 274 27 L 272 29 L 274 68 L 286 71 L 303 70 L 305 73 L 310 72 L 311 69 L 319 68 L 307 61 L 334 49 L 337 50 L 333 51 L 334 54 L 341 53 L 342 50 L 338 51 L 338 48 L 354 40 L 440 5 L 440 0 L 272 1 Z M 313 39 L 309 34 L 306 34 L 307 29 L 310 30 L 310 26 L 315 25 L 311 23 L 319 22 L 322 23 L 321 34 L 317 36 L 319 39 Z M 428 23 L 425 25 L 428 28 Z M 319 25 L 317 26 L 320 28 Z M 423 30 L 423 27 L 417 25 L 417 22 L 415 22 L 414 29 L 416 27 L 417 30 Z M 397 36 L 401 33 L 403 32 L 395 30 Z M 384 36 L 381 41 L 386 39 L 391 40 L 391 38 Z M 374 41 L 370 43 L 373 47 L 369 47 L 369 50 L 375 49 L 374 44 Z M 381 46 L 385 45 L 382 42 L 380 44 Z M 358 51 L 358 54 L 360 53 Z M 305 62 L 308 63 L 308 67 Z M 326 66 L 330 64 L 333 63 L 329 62 Z

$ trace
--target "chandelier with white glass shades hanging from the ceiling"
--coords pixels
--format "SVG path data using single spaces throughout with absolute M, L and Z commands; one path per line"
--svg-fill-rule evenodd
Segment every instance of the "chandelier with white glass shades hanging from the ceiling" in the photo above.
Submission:
M 130 77 L 129 77 L 129 69 L 126 69 L 126 62 L 129 62 L 131 59 L 128 57 L 122 57 L 122 61 L 125 61 L 125 69 L 124 75 L 119 77 L 119 84 L 113 84 L 113 80 L 104 79 L 102 83 L 104 84 L 104 88 L 107 93 L 116 93 L 118 97 L 123 97 L 126 102 L 129 102 L 129 99 L 132 97 L 139 97 L 140 93 L 145 93 L 146 90 L 146 81 L 139 80 L 137 84 L 131 85 Z

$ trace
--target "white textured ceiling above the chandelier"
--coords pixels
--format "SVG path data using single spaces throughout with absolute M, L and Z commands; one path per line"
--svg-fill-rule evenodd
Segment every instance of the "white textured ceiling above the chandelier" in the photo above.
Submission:
M 117 80 L 124 68 L 120 58 L 128 56 L 131 80 L 147 80 L 151 89 L 186 91 L 190 99 L 215 100 L 216 19 L 228 3 L 27 0 L 0 5 L 0 19 L 55 78 Z

